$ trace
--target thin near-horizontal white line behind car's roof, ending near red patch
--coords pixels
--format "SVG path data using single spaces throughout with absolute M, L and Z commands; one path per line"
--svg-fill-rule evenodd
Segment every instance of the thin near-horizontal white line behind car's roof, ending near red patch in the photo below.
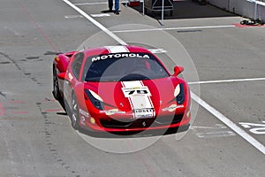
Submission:
M 164 27 L 164 28 L 150 28 L 150 29 L 128 29 L 128 30 L 117 30 L 112 33 L 133 33 L 133 32 L 149 32 L 149 31 L 164 31 L 164 30 L 186 30 L 186 29 L 208 29 L 208 28 L 223 28 L 223 27 L 236 27 L 234 25 L 223 25 L 223 26 L 199 26 L 199 27 Z

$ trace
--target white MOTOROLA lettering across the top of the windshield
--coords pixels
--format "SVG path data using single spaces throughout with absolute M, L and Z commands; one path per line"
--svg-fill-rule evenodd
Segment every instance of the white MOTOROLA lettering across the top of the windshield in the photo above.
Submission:
M 104 60 L 104 59 L 115 59 L 115 58 L 149 58 L 147 54 L 140 54 L 140 53 L 115 53 L 115 54 L 108 54 L 102 55 L 95 58 L 92 58 L 92 62 Z

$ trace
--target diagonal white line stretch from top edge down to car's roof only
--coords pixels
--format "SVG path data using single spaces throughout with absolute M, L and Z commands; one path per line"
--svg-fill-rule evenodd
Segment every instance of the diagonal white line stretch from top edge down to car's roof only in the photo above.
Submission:
M 119 42 L 122 45 L 126 45 L 126 42 L 124 42 L 123 40 L 121 40 L 119 37 L 117 37 L 117 35 L 114 35 L 113 33 L 110 32 L 109 29 L 107 29 L 106 27 L 102 26 L 102 24 L 100 24 L 99 22 L 97 22 L 95 19 L 91 18 L 89 15 L 87 15 L 86 12 L 83 12 L 82 10 L 80 10 L 76 5 L 72 4 L 70 1 L 68 0 L 63 0 L 64 3 L 70 5 L 72 7 L 72 9 L 74 9 L 75 11 L 79 12 L 81 15 L 84 16 L 84 18 L 88 19 L 90 22 L 92 22 L 96 27 L 99 27 L 100 29 L 102 29 L 103 32 L 105 32 L 106 34 L 110 35 L 110 37 L 112 37 L 115 41 Z

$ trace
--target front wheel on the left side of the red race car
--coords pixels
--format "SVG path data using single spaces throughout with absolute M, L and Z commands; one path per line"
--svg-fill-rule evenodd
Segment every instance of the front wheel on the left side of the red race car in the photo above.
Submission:
M 76 96 L 73 94 L 71 103 L 71 124 L 73 129 L 79 129 L 79 104 Z

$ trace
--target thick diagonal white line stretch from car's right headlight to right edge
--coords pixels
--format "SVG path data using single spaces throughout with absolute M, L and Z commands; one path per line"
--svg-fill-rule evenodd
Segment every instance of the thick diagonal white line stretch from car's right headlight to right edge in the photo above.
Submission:
M 191 92 L 191 96 L 195 102 L 204 107 L 208 112 L 212 113 L 217 119 L 221 120 L 227 127 L 230 127 L 234 132 L 240 135 L 246 140 L 246 142 L 251 143 L 257 150 L 260 150 L 265 154 L 265 147 L 261 142 L 258 142 L 251 135 L 248 135 L 242 128 L 238 127 L 230 119 L 227 119 L 221 112 L 218 112 L 215 108 L 203 101 L 199 96 L 196 96 Z

